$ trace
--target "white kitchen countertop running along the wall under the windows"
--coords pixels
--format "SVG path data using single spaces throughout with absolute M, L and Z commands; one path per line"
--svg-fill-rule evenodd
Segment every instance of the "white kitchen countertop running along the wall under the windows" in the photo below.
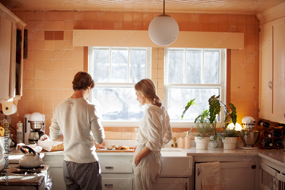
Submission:
M 181 151 L 186 156 L 260 156 L 266 160 L 276 163 L 282 167 L 285 167 L 285 151 L 279 149 L 257 149 L 257 150 L 244 150 L 236 148 L 234 150 L 226 150 L 223 148 L 210 148 L 205 150 L 196 149 L 196 147 L 191 148 L 172 148 L 165 147 L 161 151 Z M 97 152 L 98 156 L 133 156 L 134 152 Z M 23 156 L 20 150 L 13 148 L 9 152 L 9 162 L 17 163 L 19 162 L 18 157 Z M 63 156 L 63 151 L 46 152 L 40 153 L 42 156 Z M 16 158 L 16 159 L 15 159 Z

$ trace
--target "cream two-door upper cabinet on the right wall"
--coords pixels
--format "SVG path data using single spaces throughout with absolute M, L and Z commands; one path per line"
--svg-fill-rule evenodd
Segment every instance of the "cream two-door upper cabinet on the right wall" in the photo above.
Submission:
M 285 17 L 260 25 L 259 114 L 285 123 Z

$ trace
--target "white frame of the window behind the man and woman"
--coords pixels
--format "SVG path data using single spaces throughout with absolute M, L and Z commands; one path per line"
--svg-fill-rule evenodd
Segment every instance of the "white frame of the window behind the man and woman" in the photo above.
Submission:
M 89 46 L 88 47 L 88 73 L 91 74 L 90 72 L 93 70 L 91 67 L 91 62 L 93 61 L 93 48 L 128 48 L 128 51 L 130 51 L 130 48 L 146 48 L 146 69 L 145 69 L 145 78 L 151 79 L 151 48 L 150 47 L 96 47 L 96 46 Z M 111 53 L 110 53 L 111 56 Z M 111 60 L 111 59 L 110 59 Z M 110 67 L 111 69 L 111 67 Z M 129 70 L 129 59 L 128 59 L 128 70 Z M 109 75 L 111 76 L 111 74 Z M 129 78 L 129 72 L 128 72 L 128 78 Z M 137 81 L 139 82 L 139 81 Z M 111 83 L 111 82 L 106 82 L 106 83 L 99 83 L 95 82 L 95 87 L 120 87 L 120 86 L 132 86 L 134 87 L 136 83 Z M 88 100 L 92 102 L 92 93 L 93 91 L 90 92 Z M 135 96 L 135 94 L 134 94 Z M 138 101 L 139 105 L 139 101 Z M 101 120 L 101 124 L 105 127 L 138 127 L 140 121 L 103 121 Z

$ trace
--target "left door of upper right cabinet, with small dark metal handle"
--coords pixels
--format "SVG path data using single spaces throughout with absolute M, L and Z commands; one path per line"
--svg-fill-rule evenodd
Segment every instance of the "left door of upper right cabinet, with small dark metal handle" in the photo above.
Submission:
M 259 113 L 258 117 L 270 120 L 272 110 L 272 24 L 260 25 L 259 32 Z

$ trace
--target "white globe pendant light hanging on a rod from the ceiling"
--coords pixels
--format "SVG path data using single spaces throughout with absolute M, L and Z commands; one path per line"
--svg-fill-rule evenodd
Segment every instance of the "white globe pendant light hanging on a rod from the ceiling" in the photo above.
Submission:
M 178 24 L 170 15 L 165 14 L 163 0 L 163 14 L 158 15 L 150 22 L 148 26 L 148 35 L 155 44 L 168 46 L 175 42 L 178 34 Z

